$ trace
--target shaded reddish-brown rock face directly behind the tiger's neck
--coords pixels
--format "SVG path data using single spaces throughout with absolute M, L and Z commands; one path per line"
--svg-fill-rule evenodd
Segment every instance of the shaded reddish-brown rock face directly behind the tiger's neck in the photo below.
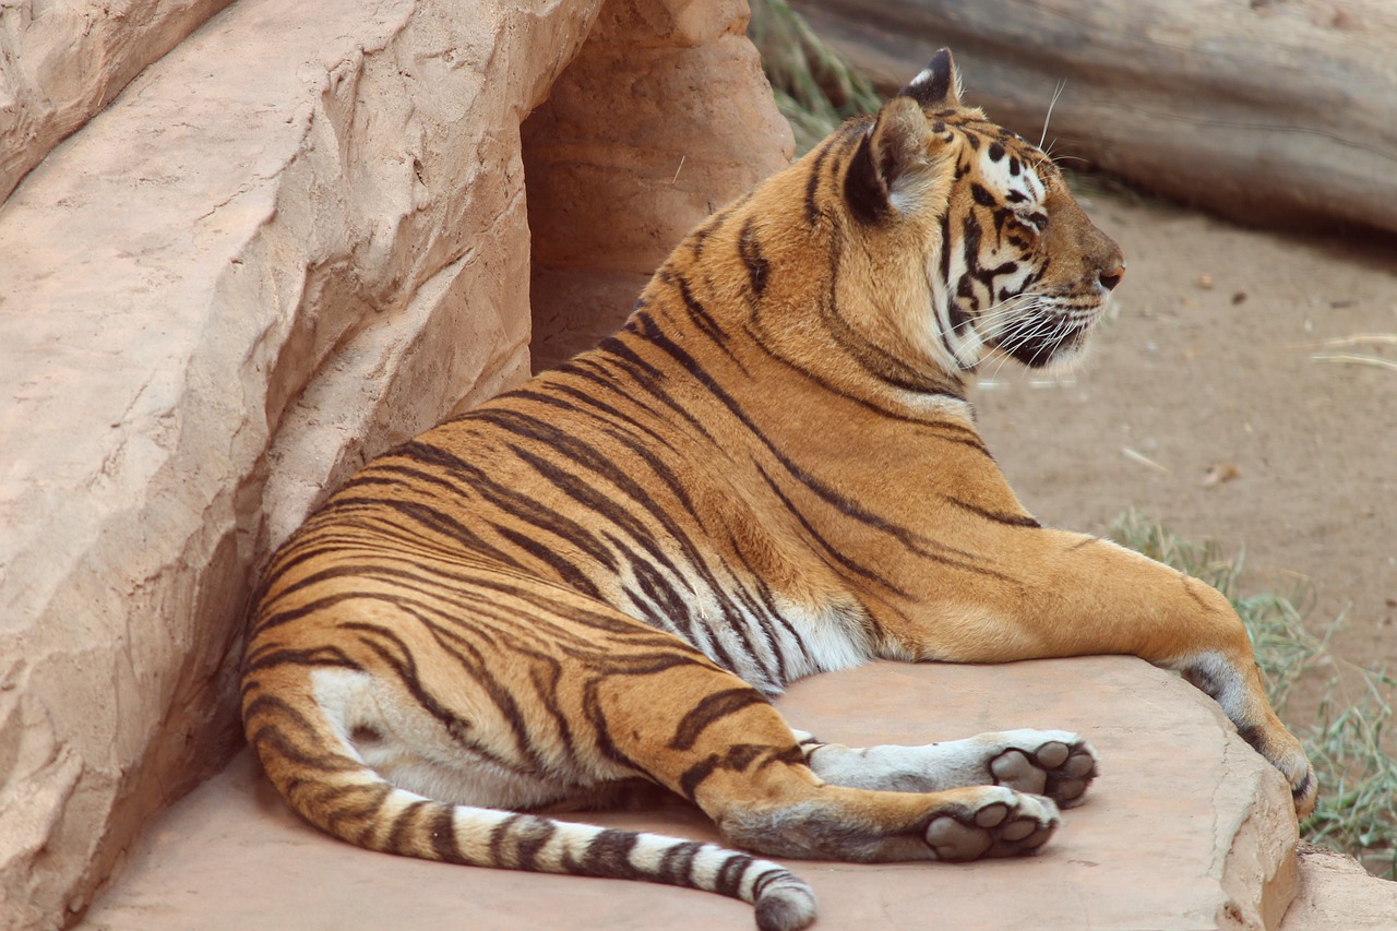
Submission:
M 525 122 L 535 369 L 615 330 L 689 229 L 789 161 L 746 22 L 745 0 L 613 0 Z

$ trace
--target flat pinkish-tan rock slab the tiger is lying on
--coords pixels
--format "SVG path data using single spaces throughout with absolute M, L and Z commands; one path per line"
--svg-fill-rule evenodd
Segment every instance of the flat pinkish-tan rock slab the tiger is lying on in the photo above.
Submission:
M 1201 693 L 1139 660 L 880 664 L 799 682 L 781 707 L 798 727 L 855 745 L 1066 727 L 1102 760 L 1091 800 L 1066 812 L 1038 857 L 791 863 L 819 896 L 816 928 L 1259 930 L 1278 925 L 1295 892 L 1295 819 L 1281 777 Z M 590 818 L 717 837 L 689 808 Z M 752 909 L 638 882 L 362 851 L 296 819 L 243 753 L 148 832 L 88 924 L 747 931 Z

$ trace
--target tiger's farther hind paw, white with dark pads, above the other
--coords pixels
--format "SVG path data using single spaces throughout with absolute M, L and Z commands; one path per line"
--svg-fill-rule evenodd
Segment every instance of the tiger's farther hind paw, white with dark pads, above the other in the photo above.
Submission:
M 1046 795 L 1062 808 L 1080 805 L 1097 777 L 1095 751 L 1071 731 L 1017 730 L 974 739 L 997 751 L 989 758 L 996 786 Z

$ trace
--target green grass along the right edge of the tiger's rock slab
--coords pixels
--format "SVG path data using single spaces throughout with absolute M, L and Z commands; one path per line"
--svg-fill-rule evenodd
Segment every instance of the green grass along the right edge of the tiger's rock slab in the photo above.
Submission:
M 1241 555 L 1227 558 L 1214 542 L 1180 540 L 1134 512 L 1116 519 L 1109 535 L 1228 597 L 1252 636 L 1271 705 L 1282 717 L 1292 686 L 1305 675 L 1323 677 L 1316 721 L 1291 728 L 1320 780 L 1319 804 L 1301 833 L 1356 857 L 1375 875 L 1397 879 L 1397 741 L 1389 699 L 1397 681 L 1382 670 L 1352 668 L 1330 653 L 1329 637 L 1343 619 L 1322 639 L 1305 629 L 1313 602 L 1308 586 L 1243 596 Z M 1341 675 L 1345 667 L 1350 674 Z M 1358 693 L 1350 695 L 1351 689 Z

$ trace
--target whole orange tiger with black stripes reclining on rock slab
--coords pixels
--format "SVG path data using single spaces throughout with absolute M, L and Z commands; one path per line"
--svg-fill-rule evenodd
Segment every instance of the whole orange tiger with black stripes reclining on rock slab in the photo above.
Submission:
M 704 219 L 595 348 L 370 460 L 270 561 L 247 741 L 372 850 L 717 892 L 814 921 L 767 857 L 1038 851 L 1078 734 L 852 748 L 773 706 L 873 658 L 1134 654 L 1316 780 L 1214 589 L 1044 527 L 981 439 L 977 372 L 1080 355 L 1119 246 L 949 50 Z M 557 819 L 655 793 L 722 843 Z M 731 844 L 731 846 L 724 846 Z

